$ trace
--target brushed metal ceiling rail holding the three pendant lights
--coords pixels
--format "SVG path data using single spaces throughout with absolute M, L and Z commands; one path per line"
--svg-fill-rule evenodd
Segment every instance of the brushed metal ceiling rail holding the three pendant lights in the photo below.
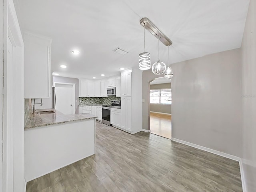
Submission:
M 140 20 L 140 24 L 144 27 L 145 29 L 148 30 L 152 35 L 154 35 L 156 38 L 159 36 L 159 40 L 165 44 L 166 46 L 172 45 L 172 41 L 166 37 L 166 35 L 160 31 L 155 24 L 150 21 L 148 18 L 144 17 Z

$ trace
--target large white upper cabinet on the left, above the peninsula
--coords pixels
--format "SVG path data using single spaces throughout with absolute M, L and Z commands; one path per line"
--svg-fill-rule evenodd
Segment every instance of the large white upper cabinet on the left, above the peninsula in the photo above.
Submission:
M 24 32 L 24 98 L 50 98 L 52 40 Z

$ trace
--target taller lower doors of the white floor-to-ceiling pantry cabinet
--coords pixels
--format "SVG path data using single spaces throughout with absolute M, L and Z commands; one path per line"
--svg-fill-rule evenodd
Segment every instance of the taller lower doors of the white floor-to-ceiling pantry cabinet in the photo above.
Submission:
M 132 131 L 132 98 L 121 98 L 121 128 Z

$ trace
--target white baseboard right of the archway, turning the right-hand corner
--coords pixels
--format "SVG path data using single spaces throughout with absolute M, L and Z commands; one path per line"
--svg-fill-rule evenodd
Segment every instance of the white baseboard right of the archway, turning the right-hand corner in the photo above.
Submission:
M 207 152 L 210 152 L 210 153 L 222 156 L 222 157 L 226 157 L 228 159 L 238 161 L 239 162 L 239 167 L 240 167 L 242 189 L 243 189 L 243 192 L 247 192 L 246 191 L 246 185 L 245 185 L 245 178 L 244 178 L 244 169 L 243 169 L 243 165 L 242 165 L 242 159 L 240 157 L 230 155 L 230 154 L 227 154 L 227 153 L 224 153 L 224 152 L 220 152 L 220 151 L 217 151 L 217 150 L 214 150 L 214 149 L 210 149 L 210 148 L 207 148 L 207 147 L 203 147 L 203 146 L 193 144 L 193 143 L 190 143 L 190 142 L 186 142 L 186 141 L 176 139 L 176 138 L 171 138 L 171 140 L 175 141 L 175 142 L 178 142 L 178 143 L 182 143 L 182 144 L 191 146 L 191 147 L 194 147 L 194 148 L 197 148 L 197 149 L 200 149 L 200 150 L 203 150 L 203 151 L 207 151 Z

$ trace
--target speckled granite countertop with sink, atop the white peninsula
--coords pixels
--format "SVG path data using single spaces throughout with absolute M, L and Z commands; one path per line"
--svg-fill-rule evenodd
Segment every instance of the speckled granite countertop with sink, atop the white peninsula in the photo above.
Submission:
M 47 109 L 44 109 L 44 110 L 47 110 Z M 48 110 L 52 110 L 52 109 L 48 109 Z M 52 114 L 40 114 L 40 115 L 31 114 L 28 117 L 28 121 L 26 122 L 25 130 L 34 128 L 34 127 L 68 123 L 72 121 L 81 121 L 81 120 L 92 119 L 97 117 L 89 113 L 65 115 L 59 112 L 58 110 L 54 110 L 54 111 L 55 113 L 52 113 Z

